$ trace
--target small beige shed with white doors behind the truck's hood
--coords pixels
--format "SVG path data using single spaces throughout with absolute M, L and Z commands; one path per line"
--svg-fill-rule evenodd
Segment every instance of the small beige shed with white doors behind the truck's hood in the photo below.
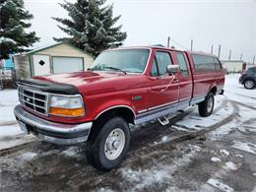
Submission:
M 94 57 L 66 42 L 14 56 L 17 79 L 87 70 Z

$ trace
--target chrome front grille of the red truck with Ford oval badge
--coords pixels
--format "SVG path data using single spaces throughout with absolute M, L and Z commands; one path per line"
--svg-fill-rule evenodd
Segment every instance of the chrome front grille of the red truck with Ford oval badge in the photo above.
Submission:
M 19 86 L 19 99 L 22 105 L 43 115 L 48 114 L 48 94 Z

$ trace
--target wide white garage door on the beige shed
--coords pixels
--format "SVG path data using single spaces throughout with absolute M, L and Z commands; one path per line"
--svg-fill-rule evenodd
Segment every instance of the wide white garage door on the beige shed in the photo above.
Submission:
M 52 57 L 53 73 L 71 73 L 84 70 L 83 58 Z

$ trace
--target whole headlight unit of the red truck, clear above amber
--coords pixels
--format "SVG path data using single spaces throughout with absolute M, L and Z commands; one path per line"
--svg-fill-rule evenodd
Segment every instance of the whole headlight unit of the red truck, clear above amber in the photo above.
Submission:
M 81 96 L 51 96 L 50 114 L 59 116 L 82 116 L 84 105 Z

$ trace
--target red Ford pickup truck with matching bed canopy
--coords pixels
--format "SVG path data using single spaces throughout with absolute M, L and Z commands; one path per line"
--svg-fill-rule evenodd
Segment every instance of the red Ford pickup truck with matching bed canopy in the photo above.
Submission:
M 55 144 L 87 142 L 90 163 L 117 166 L 130 144 L 129 124 L 159 119 L 198 104 L 209 116 L 224 93 L 213 55 L 158 46 L 103 51 L 86 72 L 19 81 L 14 113 L 23 131 Z

